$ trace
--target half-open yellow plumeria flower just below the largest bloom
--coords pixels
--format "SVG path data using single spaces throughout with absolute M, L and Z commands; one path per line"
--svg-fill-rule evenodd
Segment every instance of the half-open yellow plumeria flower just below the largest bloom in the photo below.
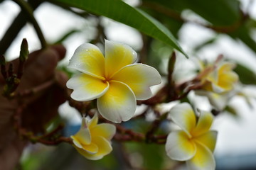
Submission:
M 91 120 L 82 118 L 80 130 L 73 136 L 73 146 L 87 159 L 102 159 L 112 151 L 111 139 L 116 132 L 114 125 L 101 123 L 97 125 L 97 114 Z

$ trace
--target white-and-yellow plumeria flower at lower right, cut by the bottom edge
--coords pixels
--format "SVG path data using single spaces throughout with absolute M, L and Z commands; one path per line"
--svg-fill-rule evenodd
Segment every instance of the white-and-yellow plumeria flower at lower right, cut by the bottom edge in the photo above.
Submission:
M 167 155 L 177 161 L 186 161 L 189 169 L 214 170 L 213 151 L 217 132 L 209 130 L 213 115 L 201 111 L 196 119 L 191 106 L 181 103 L 171 108 L 169 116 L 181 130 L 169 133 L 166 140 Z

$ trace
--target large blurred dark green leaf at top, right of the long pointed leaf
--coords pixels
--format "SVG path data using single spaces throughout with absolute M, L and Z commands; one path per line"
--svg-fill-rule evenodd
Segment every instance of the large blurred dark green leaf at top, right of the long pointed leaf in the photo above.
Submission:
M 144 0 L 153 1 L 181 13 L 190 9 L 205 18 L 214 26 L 230 26 L 240 20 L 239 1 L 237 0 Z

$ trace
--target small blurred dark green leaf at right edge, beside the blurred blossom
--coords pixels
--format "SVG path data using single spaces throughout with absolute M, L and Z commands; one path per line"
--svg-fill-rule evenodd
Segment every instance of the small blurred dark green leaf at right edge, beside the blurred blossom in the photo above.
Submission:
M 256 75 L 250 69 L 241 64 L 237 64 L 234 71 L 238 74 L 242 84 L 256 84 Z

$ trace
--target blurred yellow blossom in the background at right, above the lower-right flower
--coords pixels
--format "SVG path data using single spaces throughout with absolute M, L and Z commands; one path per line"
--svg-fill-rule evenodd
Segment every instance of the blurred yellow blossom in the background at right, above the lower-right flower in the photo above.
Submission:
M 214 65 L 206 66 L 201 72 L 202 89 L 220 94 L 234 89 L 238 74 L 233 72 L 235 64 L 216 61 Z

